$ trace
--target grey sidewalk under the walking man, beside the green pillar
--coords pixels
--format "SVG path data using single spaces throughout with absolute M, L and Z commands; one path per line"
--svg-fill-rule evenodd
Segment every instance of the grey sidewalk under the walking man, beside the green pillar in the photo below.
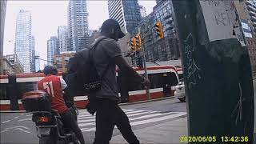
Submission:
M 134 130 L 135 135 L 141 143 L 186 143 L 180 142 L 181 136 L 187 136 L 187 118 L 179 118 L 174 121 L 161 123 L 158 125 L 146 127 L 140 130 Z M 112 137 L 110 143 L 127 143 L 122 134 Z

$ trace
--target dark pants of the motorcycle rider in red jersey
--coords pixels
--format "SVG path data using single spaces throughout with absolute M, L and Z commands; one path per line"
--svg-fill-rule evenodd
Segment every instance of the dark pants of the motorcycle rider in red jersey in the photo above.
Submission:
M 65 113 L 60 115 L 61 115 L 64 126 L 74 131 L 74 134 L 78 138 L 79 142 L 81 144 L 84 144 L 85 140 L 83 139 L 82 131 L 80 130 L 78 126 L 78 122 L 75 121 L 74 115 L 70 112 L 70 110 L 67 110 Z

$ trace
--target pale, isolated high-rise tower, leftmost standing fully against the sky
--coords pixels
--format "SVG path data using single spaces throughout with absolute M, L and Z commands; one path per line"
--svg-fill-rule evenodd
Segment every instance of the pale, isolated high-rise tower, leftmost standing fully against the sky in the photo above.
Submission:
M 33 70 L 33 38 L 31 36 L 31 13 L 20 10 L 16 19 L 14 53 L 18 55 L 25 73 Z

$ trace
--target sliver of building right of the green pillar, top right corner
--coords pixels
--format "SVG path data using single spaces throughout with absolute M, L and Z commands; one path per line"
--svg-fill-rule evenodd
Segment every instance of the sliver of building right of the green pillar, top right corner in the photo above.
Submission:
M 246 39 L 246 47 L 250 55 L 253 77 L 256 78 L 256 1 L 234 1 Z

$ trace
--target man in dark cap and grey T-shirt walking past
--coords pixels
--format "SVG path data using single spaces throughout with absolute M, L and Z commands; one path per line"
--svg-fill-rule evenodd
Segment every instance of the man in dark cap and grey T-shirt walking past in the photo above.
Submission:
M 129 143 L 139 143 L 138 138 L 131 129 L 127 115 L 118 106 L 118 83 L 116 78 L 116 65 L 126 77 L 133 78 L 137 82 L 150 86 L 150 81 L 137 74 L 129 66 L 118 45 L 118 39 L 123 38 L 119 24 L 114 19 L 107 19 L 102 24 L 98 38 L 106 37 L 92 51 L 92 58 L 99 75 L 102 77 L 102 87 L 100 90 L 91 93 L 90 102 L 96 106 L 96 132 L 94 144 L 107 144 L 113 134 L 114 126 L 118 127 L 122 136 Z M 96 40 L 96 39 L 95 39 Z

